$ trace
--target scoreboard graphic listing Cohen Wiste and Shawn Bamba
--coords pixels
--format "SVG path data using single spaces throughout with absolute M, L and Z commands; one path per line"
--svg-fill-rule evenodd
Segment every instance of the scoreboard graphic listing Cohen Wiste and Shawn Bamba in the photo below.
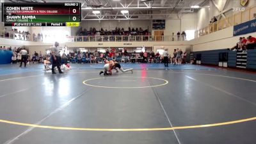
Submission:
M 2 3 L 4 26 L 79 26 L 81 3 Z

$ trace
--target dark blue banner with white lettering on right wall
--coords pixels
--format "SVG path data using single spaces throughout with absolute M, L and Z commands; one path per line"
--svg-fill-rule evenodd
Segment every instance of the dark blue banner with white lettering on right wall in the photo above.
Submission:
M 233 36 L 244 35 L 246 33 L 252 33 L 256 31 L 256 19 L 237 24 L 234 26 Z

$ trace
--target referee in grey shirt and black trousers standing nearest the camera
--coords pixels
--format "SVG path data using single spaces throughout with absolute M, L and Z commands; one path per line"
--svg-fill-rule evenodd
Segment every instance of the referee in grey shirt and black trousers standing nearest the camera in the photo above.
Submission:
M 61 64 L 61 57 L 60 57 L 60 51 L 59 51 L 59 43 L 55 42 L 54 46 L 51 48 L 51 54 L 52 54 L 52 74 L 56 74 L 54 71 L 54 68 L 57 67 L 60 74 L 63 74 L 60 69 Z

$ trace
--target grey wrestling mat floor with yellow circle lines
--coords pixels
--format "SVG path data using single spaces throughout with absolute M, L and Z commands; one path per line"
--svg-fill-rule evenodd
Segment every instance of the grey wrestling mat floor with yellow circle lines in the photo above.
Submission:
M 199 65 L 0 66 L 1 144 L 256 141 L 256 73 Z M 57 72 L 57 71 L 56 71 Z

